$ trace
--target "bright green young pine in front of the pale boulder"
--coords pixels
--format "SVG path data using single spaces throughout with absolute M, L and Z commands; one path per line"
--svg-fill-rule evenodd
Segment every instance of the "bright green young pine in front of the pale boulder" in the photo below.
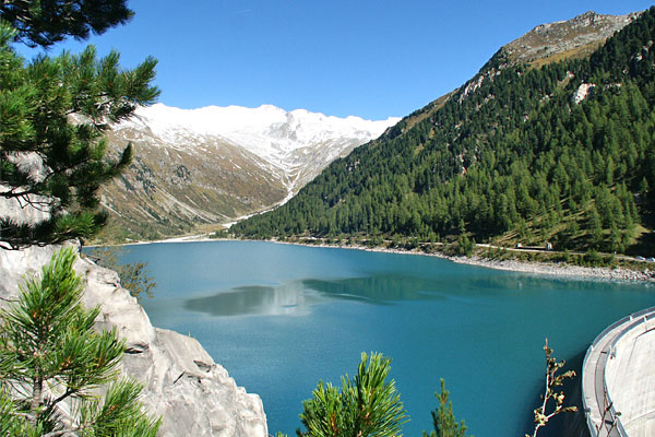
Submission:
M 0 311 L 0 434 L 154 437 L 159 421 L 141 411 L 141 386 L 117 379 L 124 342 L 96 332 L 99 307 L 81 304 L 75 259 L 72 248 L 55 253 Z

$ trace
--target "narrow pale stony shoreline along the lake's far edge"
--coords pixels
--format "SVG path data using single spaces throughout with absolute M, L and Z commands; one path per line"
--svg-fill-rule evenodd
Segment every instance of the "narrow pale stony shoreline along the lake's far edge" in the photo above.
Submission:
M 330 245 L 325 243 L 320 244 L 307 244 L 298 241 L 279 241 L 276 239 L 235 239 L 235 238 L 209 238 L 209 234 L 174 237 L 154 241 L 133 241 L 122 245 L 111 246 L 136 246 L 136 245 L 150 245 L 150 244 L 167 244 L 167 243 L 205 243 L 205 241 L 267 241 L 283 245 L 295 245 L 305 247 L 321 247 L 321 248 L 333 248 L 333 249 L 350 249 L 350 250 L 362 250 L 370 252 L 381 253 L 396 253 L 396 255 L 414 255 L 424 257 L 434 257 L 445 259 L 458 264 L 484 267 L 487 269 L 505 270 L 520 273 L 548 275 L 553 277 L 567 279 L 567 280 L 599 280 L 599 281 L 612 281 L 612 282 L 633 282 L 633 283 L 655 283 L 655 270 L 646 269 L 645 271 L 635 271 L 622 268 L 606 268 L 606 267 L 580 267 L 570 265 L 562 263 L 551 262 L 536 262 L 536 261 L 517 261 L 517 260 L 490 260 L 480 257 L 465 257 L 465 256 L 449 256 L 441 252 L 426 253 L 420 250 L 407 250 L 407 249 L 390 249 L 385 247 L 367 247 L 360 245 Z M 106 245 L 110 246 L 110 245 Z M 100 247 L 90 245 L 86 247 Z M 654 265 L 655 268 L 655 265 Z

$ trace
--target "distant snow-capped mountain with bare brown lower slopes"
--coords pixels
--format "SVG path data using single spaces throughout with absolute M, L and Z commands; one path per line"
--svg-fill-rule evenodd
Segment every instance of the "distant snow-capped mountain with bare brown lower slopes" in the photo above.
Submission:
M 327 164 L 378 138 L 397 118 L 338 118 L 271 105 L 141 107 L 108 138 L 134 161 L 103 188 L 108 238 L 156 238 L 273 208 Z

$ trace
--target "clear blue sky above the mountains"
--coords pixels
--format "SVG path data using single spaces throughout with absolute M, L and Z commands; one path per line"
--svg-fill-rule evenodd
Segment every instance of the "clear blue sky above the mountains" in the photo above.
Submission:
M 405 116 L 471 79 L 538 24 L 641 0 L 131 0 L 126 26 L 93 37 L 122 64 L 158 59 L 159 102 L 272 104 L 368 119 Z M 56 46 L 80 51 L 86 43 Z

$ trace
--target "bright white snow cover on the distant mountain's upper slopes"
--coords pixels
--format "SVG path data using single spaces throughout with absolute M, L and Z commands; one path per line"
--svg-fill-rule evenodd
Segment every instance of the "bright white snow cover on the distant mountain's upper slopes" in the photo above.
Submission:
M 338 118 L 306 109 L 286 111 L 272 105 L 259 108 L 207 106 L 180 109 L 164 104 L 140 107 L 135 117 L 115 129 L 150 130 L 163 144 L 190 144 L 211 137 L 243 147 L 291 173 L 298 165 L 296 151 L 317 144 L 338 147 L 343 139 L 358 143 L 378 138 L 400 118 L 371 121 L 359 117 Z M 199 144 L 200 145 L 200 144 Z M 338 155 L 338 151 L 335 151 Z

